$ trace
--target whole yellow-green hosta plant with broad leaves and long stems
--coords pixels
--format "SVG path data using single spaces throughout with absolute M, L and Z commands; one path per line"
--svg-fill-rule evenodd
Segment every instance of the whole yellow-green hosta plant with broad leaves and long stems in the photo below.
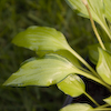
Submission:
M 18 33 L 12 43 L 28 48 L 37 57 L 26 60 L 20 69 L 3 83 L 3 85 L 49 87 L 57 84 L 58 89 L 73 98 L 85 94 L 97 107 L 88 103 L 72 103 L 60 111 L 111 111 L 111 97 L 103 99 L 100 105 L 85 91 L 85 84 L 80 75 L 98 82 L 111 91 L 111 43 L 102 41 L 95 28 L 98 22 L 111 39 L 111 0 L 65 0 L 79 16 L 90 19 L 97 44 L 89 46 L 89 59 L 95 65 L 93 69 L 67 42 L 65 37 L 53 28 L 32 26 Z M 81 63 L 80 63 L 81 62 Z M 84 64 L 82 67 L 81 64 Z

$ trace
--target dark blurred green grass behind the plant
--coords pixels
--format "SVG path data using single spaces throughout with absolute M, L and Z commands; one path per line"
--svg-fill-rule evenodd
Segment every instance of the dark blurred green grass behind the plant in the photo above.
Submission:
M 2 87 L 22 61 L 36 56 L 11 43 L 18 32 L 30 26 L 61 31 L 83 58 L 87 46 L 97 42 L 90 21 L 79 17 L 64 0 L 0 0 L 0 111 L 58 111 L 67 97 L 56 85 Z

